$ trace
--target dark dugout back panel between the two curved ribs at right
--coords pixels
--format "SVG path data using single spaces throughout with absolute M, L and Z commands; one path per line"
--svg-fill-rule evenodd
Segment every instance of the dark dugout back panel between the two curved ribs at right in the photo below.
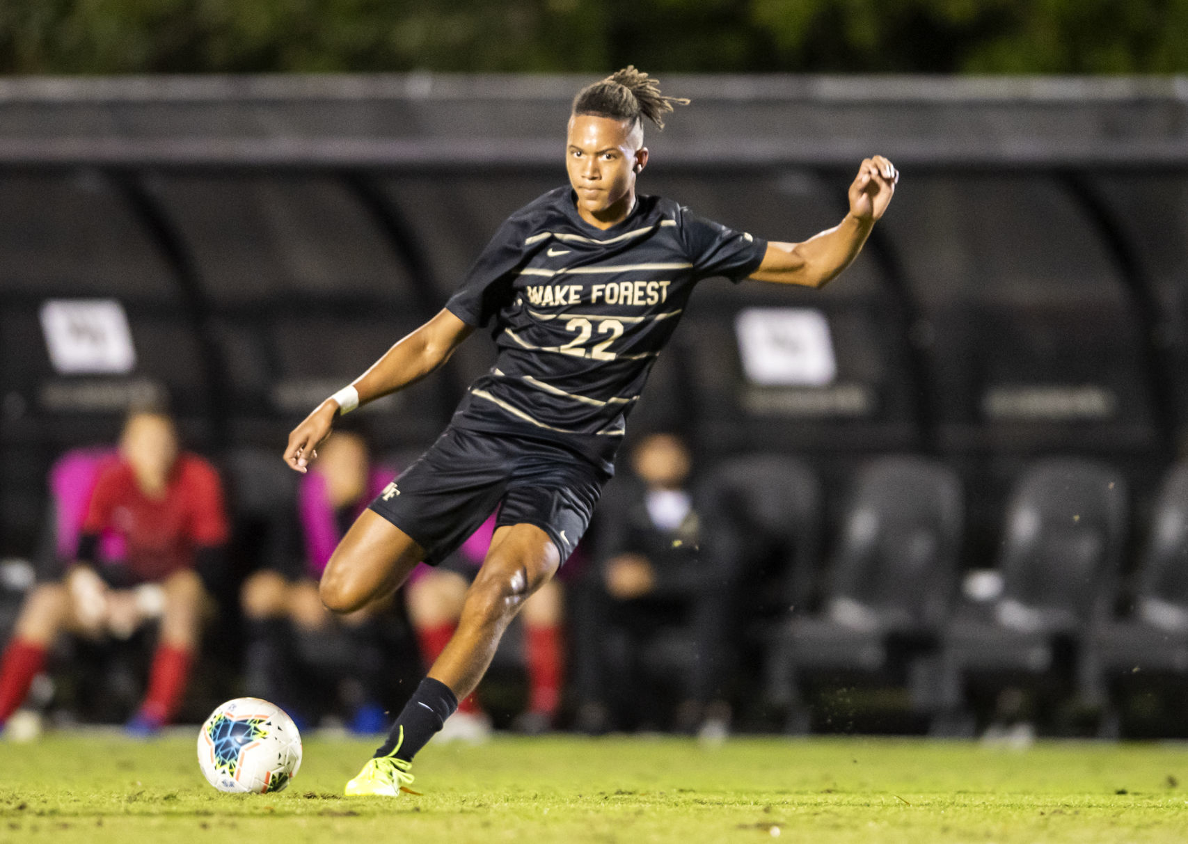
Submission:
M 1164 458 L 1140 309 L 1091 214 L 1047 174 L 921 173 L 880 222 L 918 319 L 931 448 L 993 564 L 1012 480 L 1092 456 L 1138 494 Z

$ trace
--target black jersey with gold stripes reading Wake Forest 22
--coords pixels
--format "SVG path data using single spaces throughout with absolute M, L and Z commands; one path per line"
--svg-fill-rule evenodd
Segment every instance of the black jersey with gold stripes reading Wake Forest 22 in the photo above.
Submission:
M 694 285 L 739 281 L 765 250 L 671 199 L 639 196 L 604 230 L 569 188 L 549 191 L 507 218 L 446 303 L 499 348 L 451 424 L 561 439 L 609 468 Z

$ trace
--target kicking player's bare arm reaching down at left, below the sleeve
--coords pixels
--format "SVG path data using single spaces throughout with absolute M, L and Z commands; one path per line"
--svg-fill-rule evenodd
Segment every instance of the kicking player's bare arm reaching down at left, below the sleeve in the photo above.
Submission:
M 394 393 L 429 375 L 449 360 L 474 326 L 467 325 L 448 310 L 418 328 L 384 353 L 371 368 L 352 382 L 359 394 L 359 404 Z M 330 396 L 289 434 L 284 459 L 292 469 L 304 472 L 309 462 L 317 456 L 318 443 L 330 436 L 341 405 Z

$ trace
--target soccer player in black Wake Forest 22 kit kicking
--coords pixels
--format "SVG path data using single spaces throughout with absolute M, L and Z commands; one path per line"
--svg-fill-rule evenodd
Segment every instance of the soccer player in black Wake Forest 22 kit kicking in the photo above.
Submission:
M 419 560 L 441 560 L 499 508 L 453 639 L 348 795 L 397 797 L 412 781 L 415 754 L 474 690 L 524 601 L 573 552 L 696 283 L 726 275 L 821 287 L 854 260 L 891 201 L 895 167 L 868 158 L 846 217 L 791 243 L 638 195 L 643 121 L 663 128 L 664 114 L 684 102 L 632 66 L 583 88 L 565 141 L 569 185 L 512 214 L 441 312 L 289 436 L 284 458 L 305 471 L 339 414 L 425 377 L 478 328 L 499 348 L 446 432 L 355 521 L 322 576 L 326 605 L 354 611 Z

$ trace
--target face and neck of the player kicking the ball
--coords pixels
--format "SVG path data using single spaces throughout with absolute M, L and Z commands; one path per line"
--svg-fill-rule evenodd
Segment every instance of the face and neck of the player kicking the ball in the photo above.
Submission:
M 644 131 L 637 123 L 577 114 L 569 119 L 565 169 L 577 195 L 577 211 L 594 226 L 613 226 L 631 212 L 636 176 L 647 163 Z

